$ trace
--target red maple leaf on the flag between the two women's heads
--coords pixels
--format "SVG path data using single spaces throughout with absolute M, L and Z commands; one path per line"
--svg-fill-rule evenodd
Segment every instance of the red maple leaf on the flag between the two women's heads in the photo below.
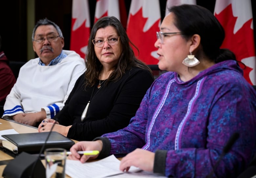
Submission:
M 135 55 L 146 64 L 157 64 L 158 60 L 151 56 L 151 52 L 157 50 L 154 44 L 157 40 L 156 31 L 159 31 L 158 24 L 160 22 L 160 18 L 149 30 L 143 32 L 147 19 L 148 18 L 144 18 L 142 16 L 142 8 L 140 8 L 136 14 L 130 14 L 130 20 L 126 31 L 131 42 L 139 49 L 138 56 L 137 49 L 131 45 Z

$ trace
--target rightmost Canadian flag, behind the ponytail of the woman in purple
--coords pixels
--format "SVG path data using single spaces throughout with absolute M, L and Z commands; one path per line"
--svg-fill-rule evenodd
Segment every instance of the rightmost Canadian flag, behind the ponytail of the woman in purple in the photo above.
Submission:
M 256 58 L 253 37 L 251 0 L 216 0 L 214 15 L 225 30 L 221 48 L 233 51 L 245 66 L 244 77 L 256 85 Z

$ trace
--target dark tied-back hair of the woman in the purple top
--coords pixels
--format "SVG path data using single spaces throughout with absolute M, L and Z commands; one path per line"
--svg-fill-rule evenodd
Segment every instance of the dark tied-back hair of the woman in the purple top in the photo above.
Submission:
M 210 60 L 219 63 L 225 60 L 236 60 L 235 54 L 229 49 L 220 49 L 225 31 L 213 13 L 198 5 L 180 5 L 168 9 L 174 13 L 175 26 L 182 32 L 185 39 L 198 34 L 201 37 L 203 52 Z M 195 53 L 195 56 L 200 55 Z M 200 60 L 200 58 L 198 58 Z

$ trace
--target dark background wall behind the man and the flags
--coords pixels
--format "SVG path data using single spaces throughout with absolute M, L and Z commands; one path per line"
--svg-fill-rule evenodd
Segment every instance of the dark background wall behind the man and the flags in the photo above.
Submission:
M 131 0 L 124 0 L 127 14 Z M 27 22 L 27 3 L 31 0 L 1 0 L 0 1 L 0 35 L 2 50 L 10 61 L 27 61 L 27 43 L 32 43 L 31 36 L 27 36 L 27 23 L 35 24 L 39 19 L 47 17 L 55 22 L 63 32 L 65 38 L 64 49 L 70 47 L 72 0 L 34 0 L 34 22 Z M 159 0 L 161 18 L 165 15 L 166 0 Z M 256 39 L 256 2 L 251 0 L 254 17 L 254 36 Z M 215 0 L 197 0 L 197 5 L 214 11 Z M 96 0 L 89 0 L 91 26 L 94 22 Z M 31 9 L 29 9 L 31 10 Z M 256 40 L 255 40 L 256 41 Z

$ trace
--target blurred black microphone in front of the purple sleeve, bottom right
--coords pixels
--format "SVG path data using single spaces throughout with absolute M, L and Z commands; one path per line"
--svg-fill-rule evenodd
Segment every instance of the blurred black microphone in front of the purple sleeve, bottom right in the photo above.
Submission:
M 207 178 L 211 178 L 211 177 L 212 177 L 212 175 L 213 175 L 213 173 L 214 173 L 214 170 L 217 169 L 217 167 L 219 166 L 220 161 L 222 160 L 222 158 L 223 158 L 223 157 L 225 156 L 225 154 L 232 148 L 232 146 L 234 145 L 234 143 L 237 141 L 238 138 L 239 138 L 239 133 L 238 133 L 238 132 L 233 133 L 233 134 L 229 137 L 229 139 L 228 139 L 226 145 L 224 146 L 224 148 L 223 148 L 223 150 L 222 150 L 221 156 L 218 158 L 217 162 L 215 163 L 215 165 L 214 165 L 212 171 L 211 171 L 210 174 L 207 176 Z

